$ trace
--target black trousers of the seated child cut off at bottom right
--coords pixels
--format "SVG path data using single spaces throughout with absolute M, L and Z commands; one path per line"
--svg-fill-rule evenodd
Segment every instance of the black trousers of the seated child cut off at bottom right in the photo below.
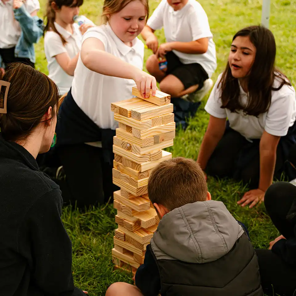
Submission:
M 296 221 L 295 219 L 294 222 L 291 221 L 287 216 L 293 205 L 296 212 L 296 187 L 287 182 L 274 183 L 266 191 L 264 203 L 273 224 L 286 237 L 293 249 L 296 239 Z M 292 251 L 290 258 L 286 256 L 284 258 L 281 252 L 274 250 L 275 248 L 256 250 L 262 288 L 270 296 L 296 295 L 296 263 L 291 263 L 296 259 L 296 245 L 294 248 L 295 253 Z M 282 254 L 284 252 L 285 248 Z

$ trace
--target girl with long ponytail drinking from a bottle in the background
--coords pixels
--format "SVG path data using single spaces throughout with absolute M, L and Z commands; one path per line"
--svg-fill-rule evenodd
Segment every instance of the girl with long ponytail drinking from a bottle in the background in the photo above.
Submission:
M 47 24 L 44 29 L 44 52 L 47 59 L 48 77 L 59 88 L 60 95 L 69 91 L 77 64 L 82 34 L 92 24 L 74 23 L 83 0 L 49 0 Z

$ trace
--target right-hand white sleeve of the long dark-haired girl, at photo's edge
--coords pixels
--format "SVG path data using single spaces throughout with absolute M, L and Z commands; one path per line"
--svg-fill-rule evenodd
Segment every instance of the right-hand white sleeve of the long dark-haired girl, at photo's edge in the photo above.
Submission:
M 286 94 L 283 93 L 287 89 Z M 282 92 L 278 98 L 273 101 L 266 114 L 265 131 L 273 136 L 283 137 L 288 133 L 292 117 L 295 117 L 296 110 L 296 97 L 294 89 L 284 85 L 279 91 L 274 91 L 273 95 L 277 92 Z

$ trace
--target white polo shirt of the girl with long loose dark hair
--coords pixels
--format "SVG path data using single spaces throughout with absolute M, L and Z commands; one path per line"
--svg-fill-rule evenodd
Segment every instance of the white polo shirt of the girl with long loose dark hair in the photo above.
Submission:
M 229 109 L 221 108 L 221 89 L 217 88 L 222 74 L 219 75 L 210 97 L 208 98 L 205 110 L 217 118 L 228 118 L 230 127 L 236 130 L 246 139 L 260 139 L 264 130 L 273 136 L 285 136 L 296 118 L 296 96 L 292 86 L 283 85 L 278 91 L 271 92 L 271 104 L 267 112 L 261 113 L 258 117 L 244 115 L 242 110 L 230 112 Z M 280 82 L 275 78 L 273 87 L 279 87 Z M 247 93 L 240 85 L 241 104 L 248 101 Z

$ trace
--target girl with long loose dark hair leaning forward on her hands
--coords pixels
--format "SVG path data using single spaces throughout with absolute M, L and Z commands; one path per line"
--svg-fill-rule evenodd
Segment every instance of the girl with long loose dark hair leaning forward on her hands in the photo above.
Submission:
M 237 32 L 205 106 L 210 120 L 197 161 L 208 175 L 249 183 L 252 190 L 238 201 L 242 206 L 263 201 L 295 142 L 295 90 L 274 68 L 275 56 L 273 34 L 265 27 Z

